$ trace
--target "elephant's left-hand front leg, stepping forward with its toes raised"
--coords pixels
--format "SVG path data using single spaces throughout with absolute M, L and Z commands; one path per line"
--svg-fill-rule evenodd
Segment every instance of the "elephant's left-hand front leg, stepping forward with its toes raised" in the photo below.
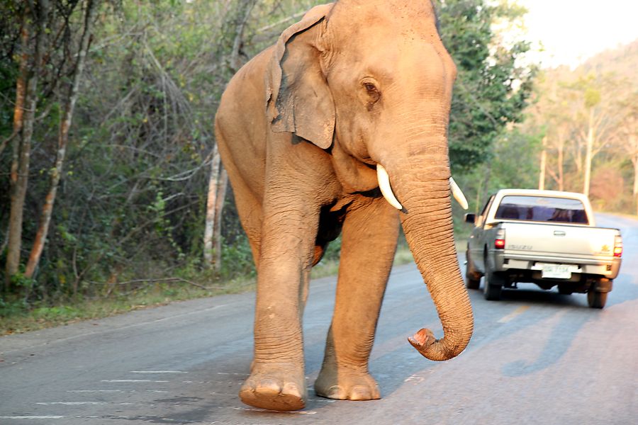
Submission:
M 264 214 L 254 361 L 240 390 L 242 402 L 250 406 L 290 411 L 306 405 L 300 294 L 312 261 L 316 234 L 312 229 L 317 222 L 318 214 L 310 212 Z

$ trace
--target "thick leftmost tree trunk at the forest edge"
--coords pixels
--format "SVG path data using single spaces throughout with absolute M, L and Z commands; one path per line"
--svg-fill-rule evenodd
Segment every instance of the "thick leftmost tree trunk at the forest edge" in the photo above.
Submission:
M 38 77 L 42 62 L 47 15 L 49 3 L 39 0 L 35 10 L 26 6 L 24 10 L 23 34 L 21 36 L 21 75 L 16 87 L 16 111 L 14 111 L 13 161 L 11 162 L 11 212 L 9 213 L 9 242 L 6 254 L 6 288 L 9 288 L 11 277 L 18 273 L 22 245 L 22 222 L 24 200 L 29 176 L 31 138 L 33 137 L 33 121 L 38 103 Z M 28 46 L 28 21 L 33 18 L 35 27 L 35 47 L 33 56 Z M 18 96 L 24 96 L 20 98 Z M 21 107 L 20 105 L 23 105 Z M 18 130 L 16 132 L 16 129 Z

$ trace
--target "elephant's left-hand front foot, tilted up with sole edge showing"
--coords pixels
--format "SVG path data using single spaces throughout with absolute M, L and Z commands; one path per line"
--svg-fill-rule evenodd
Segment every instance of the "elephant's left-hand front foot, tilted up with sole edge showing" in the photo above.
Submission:
M 279 412 L 303 409 L 308 398 L 306 378 L 298 367 L 255 365 L 239 395 L 244 404 L 259 409 Z

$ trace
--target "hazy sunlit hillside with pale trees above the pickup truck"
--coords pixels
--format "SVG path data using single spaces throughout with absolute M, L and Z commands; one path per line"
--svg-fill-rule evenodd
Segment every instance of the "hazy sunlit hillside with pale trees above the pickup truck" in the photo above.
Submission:
M 587 193 L 599 210 L 636 211 L 637 66 L 638 40 L 539 75 L 520 126 L 537 140 L 539 186 Z

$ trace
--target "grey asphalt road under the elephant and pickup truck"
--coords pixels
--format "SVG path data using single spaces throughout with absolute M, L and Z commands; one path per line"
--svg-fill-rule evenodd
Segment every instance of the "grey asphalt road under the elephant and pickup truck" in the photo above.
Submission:
M 407 336 L 435 307 L 415 266 L 396 268 L 371 356 L 383 399 L 310 390 L 305 410 L 259 411 L 237 397 L 252 351 L 254 294 L 225 295 L 0 338 L 0 424 L 637 424 L 638 221 L 605 216 L 625 241 L 604 310 L 586 295 L 520 285 L 470 296 L 474 336 L 461 356 L 422 358 Z M 461 259 L 462 260 L 462 259 Z M 304 319 L 312 387 L 335 280 L 313 281 Z

